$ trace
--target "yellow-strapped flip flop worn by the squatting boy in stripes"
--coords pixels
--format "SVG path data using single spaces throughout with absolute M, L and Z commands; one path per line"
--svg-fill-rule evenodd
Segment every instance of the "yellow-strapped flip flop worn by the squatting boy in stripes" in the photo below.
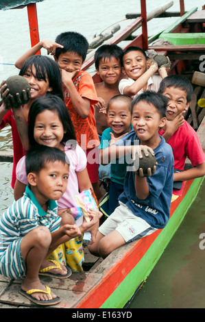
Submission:
M 29 299 L 30 301 L 34 302 L 35 304 L 38 304 L 40 306 L 53 306 L 55 304 L 58 304 L 60 302 L 60 297 L 56 297 L 55 299 L 52 298 L 51 296 L 51 288 L 49 288 L 49 286 L 46 286 L 47 290 L 38 290 L 38 289 L 32 289 L 32 290 L 27 290 L 27 292 L 25 292 L 24 290 L 19 290 L 19 293 L 25 297 L 27 297 L 27 299 Z M 32 297 L 31 294 L 36 293 L 36 292 L 40 292 L 40 293 L 46 293 L 49 294 L 49 296 L 51 297 L 51 299 L 47 300 L 47 301 L 42 301 L 39 299 L 34 299 L 34 297 Z

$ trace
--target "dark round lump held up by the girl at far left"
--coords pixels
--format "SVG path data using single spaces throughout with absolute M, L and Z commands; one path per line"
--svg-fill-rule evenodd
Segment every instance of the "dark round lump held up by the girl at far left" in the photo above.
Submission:
M 5 84 L 7 84 L 9 90 L 10 90 L 10 95 L 14 97 L 14 100 L 16 103 L 18 103 L 18 99 L 16 98 L 16 93 L 19 93 L 20 99 L 21 99 L 21 104 L 26 104 L 30 100 L 30 95 L 27 95 L 27 99 L 24 98 L 23 96 L 23 90 L 27 92 L 27 89 L 30 90 L 29 83 L 27 82 L 27 79 L 25 79 L 23 76 L 20 75 L 14 75 L 8 77 L 6 79 Z

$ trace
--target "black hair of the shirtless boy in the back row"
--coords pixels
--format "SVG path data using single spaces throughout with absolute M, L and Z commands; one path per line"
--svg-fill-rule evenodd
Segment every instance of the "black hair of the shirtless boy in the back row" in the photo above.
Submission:
M 114 44 L 100 46 L 94 55 L 95 69 L 99 69 L 99 62 L 102 59 L 108 58 L 110 60 L 112 57 L 119 60 L 121 66 L 123 66 L 123 49 L 121 47 Z

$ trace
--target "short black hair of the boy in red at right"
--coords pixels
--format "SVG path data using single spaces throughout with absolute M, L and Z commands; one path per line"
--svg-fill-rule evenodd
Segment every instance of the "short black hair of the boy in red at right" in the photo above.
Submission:
M 160 82 L 158 92 L 163 94 L 167 87 L 180 88 L 180 90 L 184 90 L 184 92 L 186 92 L 186 103 L 189 103 L 191 101 L 193 87 L 189 79 L 187 79 L 186 77 L 181 75 L 169 75 L 165 77 L 164 79 L 162 79 L 162 82 Z

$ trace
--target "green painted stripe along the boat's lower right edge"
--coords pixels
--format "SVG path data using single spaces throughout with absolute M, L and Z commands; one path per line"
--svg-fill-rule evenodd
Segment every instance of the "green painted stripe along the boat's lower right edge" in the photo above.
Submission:
M 186 212 L 189 210 L 197 193 L 202 185 L 204 177 L 196 178 L 186 193 L 186 196 L 169 219 L 167 226 L 160 232 L 154 243 L 149 247 L 143 258 L 138 262 L 136 267 L 130 271 L 123 282 L 108 297 L 101 308 L 123 308 L 125 304 L 132 298 L 136 291 L 136 287 L 140 286 L 147 279 L 154 269 L 163 251 L 167 247 L 173 234 L 182 223 Z

